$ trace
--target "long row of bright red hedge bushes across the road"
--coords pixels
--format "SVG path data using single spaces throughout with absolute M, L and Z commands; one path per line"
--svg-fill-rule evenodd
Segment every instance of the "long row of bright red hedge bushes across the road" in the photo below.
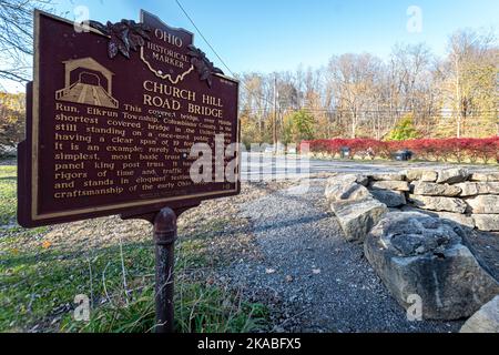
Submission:
M 350 150 L 350 159 L 389 159 L 395 152 L 409 150 L 415 158 L 429 161 L 457 161 L 471 163 L 499 162 L 499 136 L 489 139 L 421 139 L 384 142 L 371 139 L 334 139 L 303 141 L 309 152 L 333 158 L 340 156 L 342 148 Z

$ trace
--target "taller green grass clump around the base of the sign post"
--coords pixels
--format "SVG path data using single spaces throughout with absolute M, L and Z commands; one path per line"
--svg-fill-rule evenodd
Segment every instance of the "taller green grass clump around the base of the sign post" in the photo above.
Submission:
M 101 306 L 89 323 L 67 316 L 62 329 L 83 333 L 146 333 L 154 328 L 154 291 L 129 295 L 128 305 Z M 203 283 L 180 282 L 175 293 L 175 329 L 183 333 L 240 333 L 265 326 L 267 308 L 243 302 L 232 292 Z M 122 302 L 124 302 L 122 300 Z

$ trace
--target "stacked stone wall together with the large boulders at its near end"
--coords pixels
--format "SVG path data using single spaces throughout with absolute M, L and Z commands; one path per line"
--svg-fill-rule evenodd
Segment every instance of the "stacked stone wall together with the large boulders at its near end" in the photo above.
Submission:
M 364 243 L 401 306 L 418 295 L 424 318 L 459 320 L 498 295 L 499 283 L 465 240 L 472 229 L 499 231 L 499 172 L 338 174 L 328 179 L 325 196 L 345 237 Z

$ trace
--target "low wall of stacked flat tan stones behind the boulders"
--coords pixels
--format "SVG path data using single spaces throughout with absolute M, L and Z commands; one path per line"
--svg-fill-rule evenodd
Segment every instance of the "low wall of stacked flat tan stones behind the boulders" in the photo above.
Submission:
M 499 232 L 499 172 L 410 170 L 367 178 L 368 191 L 390 209 L 419 211 L 466 227 Z

